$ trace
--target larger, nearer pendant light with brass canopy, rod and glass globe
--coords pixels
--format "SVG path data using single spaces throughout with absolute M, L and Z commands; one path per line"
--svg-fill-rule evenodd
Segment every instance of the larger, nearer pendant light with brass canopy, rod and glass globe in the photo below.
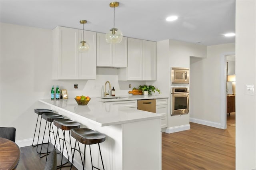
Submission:
M 111 8 L 114 8 L 114 27 L 106 34 L 106 42 L 111 44 L 120 43 L 123 38 L 123 34 L 120 30 L 115 28 L 115 7 L 119 6 L 119 2 L 111 2 L 109 4 Z

